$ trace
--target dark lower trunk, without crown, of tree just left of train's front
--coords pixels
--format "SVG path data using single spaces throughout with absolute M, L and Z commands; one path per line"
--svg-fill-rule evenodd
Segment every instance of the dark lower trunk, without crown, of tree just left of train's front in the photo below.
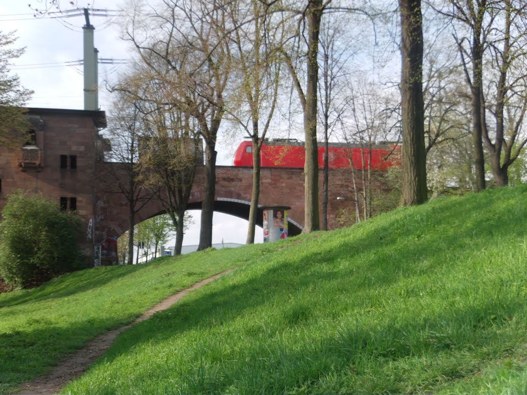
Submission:
M 216 155 L 215 144 L 206 142 L 205 186 L 201 204 L 201 229 L 198 251 L 212 246 L 212 216 L 214 214 L 214 193 L 216 190 Z

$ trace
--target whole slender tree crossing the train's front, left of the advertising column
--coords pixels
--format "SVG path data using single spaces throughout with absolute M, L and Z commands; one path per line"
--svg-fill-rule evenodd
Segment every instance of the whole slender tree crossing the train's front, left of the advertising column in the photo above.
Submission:
M 235 8 L 236 7 L 236 8 Z M 233 83 L 229 116 L 252 141 L 252 193 L 247 244 L 255 242 L 260 195 L 260 150 L 275 113 L 280 82 L 278 48 L 284 36 L 282 16 L 259 1 L 232 2 L 229 16 L 238 26 L 231 35 Z

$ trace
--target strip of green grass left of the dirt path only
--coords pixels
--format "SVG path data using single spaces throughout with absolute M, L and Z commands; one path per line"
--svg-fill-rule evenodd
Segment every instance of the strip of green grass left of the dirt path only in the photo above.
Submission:
M 160 300 L 243 262 L 212 251 L 63 275 L 0 294 L 0 394 L 51 369 L 66 353 L 133 321 Z

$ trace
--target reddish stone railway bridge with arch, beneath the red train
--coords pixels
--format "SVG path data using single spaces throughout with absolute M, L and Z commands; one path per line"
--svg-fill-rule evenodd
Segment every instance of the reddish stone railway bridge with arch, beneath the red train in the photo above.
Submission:
M 118 166 L 105 163 L 103 166 Z M 188 209 L 201 209 L 203 201 L 204 172 L 197 171 Z M 108 170 L 106 170 L 108 171 Z M 129 229 L 128 202 L 119 191 L 108 191 L 103 177 L 97 177 L 99 186 L 95 193 L 95 239 L 116 238 Z M 108 183 L 105 183 L 108 185 Z M 350 196 L 352 185 L 349 169 L 329 172 L 328 227 L 336 228 L 339 209 L 351 208 L 353 202 L 337 200 L 338 196 Z M 322 172 L 319 176 L 319 200 L 322 202 Z M 252 167 L 216 166 L 216 195 L 214 211 L 231 214 L 248 220 L 252 193 Z M 259 206 L 290 206 L 288 213 L 289 235 L 300 234 L 304 227 L 304 170 L 290 167 L 262 167 L 260 176 Z M 163 214 L 157 200 L 151 200 L 136 214 L 136 222 Z M 261 210 L 258 215 L 262 226 Z

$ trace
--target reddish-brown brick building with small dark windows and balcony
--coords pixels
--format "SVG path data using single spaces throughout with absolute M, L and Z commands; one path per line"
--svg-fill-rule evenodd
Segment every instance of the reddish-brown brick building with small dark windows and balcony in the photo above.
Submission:
M 102 160 L 103 111 L 28 108 L 31 141 L 19 149 L 0 147 L 0 211 L 17 190 L 41 192 L 82 220 L 80 246 L 93 256 L 95 166 Z

